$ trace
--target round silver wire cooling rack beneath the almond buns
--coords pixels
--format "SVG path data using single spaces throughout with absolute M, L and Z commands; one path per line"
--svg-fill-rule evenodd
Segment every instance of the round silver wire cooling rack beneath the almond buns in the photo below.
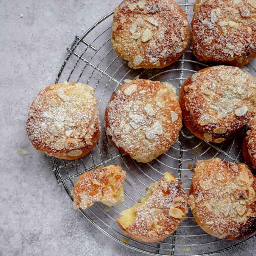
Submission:
M 193 15 L 193 1 L 178 1 L 186 12 L 189 21 Z M 166 154 L 157 157 L 150 163 L 137 163 L 130 157 L 121 154 L 107 139 L 104 128 L 105 108 L 112 93 L 125 79 L 151 79 L 172 83 L 178 95 L 183 82 L 198 70 L 208 67 L 207 64 L 195 60 L 189 48 L 183 56 L 169 67 L 154 70 L 132 70 L 113 51 L 111 45 L 111 22 L 113 12 L 109 13 L 93 25 L 81 38 L 76 36 L 73 44 L 67 49 L 69 55 L 58 74 L 57 82 L 80 81 L 95 88 L 98 100 L 102 136 L 98 145 L 85 157 L 75 161 L 53 158 L 54 172 L 73 200 L 72 189 L 77 178 L 84 172 L 99 166 L 120 165 L 127 171 L 125 182 L 125 203 L 107 208 L 101 203 L 81 210 L 84 216 L 99 230 L 114 240 L 137 251 L 159 255 L 211 255 L 230 250 L 242 241 L 225 241 L 216 239 L 205 233 L 194 221 L 189 209 L 187 217 L 182 221 L 175 233 L 168 239 L 158 243 L 136 241 L 119 229 L 115 219 L 119 213 L 143 198 L 150 184 L 163 177 L 164 172 L 171 172 L 183 182 L 186 191 L 192 178 L 191 166 L 197 160 L 219 157 L 222 160 L 244 162 L 241 155 L 241 140 L 245 133 L 235 140 L 224 144 L 211 144 L 194 137 L 184 127 L 180 137 Z M 248 64 L 248 71 L 256 74 L 256 62 Z M 252 239 L 250 237 L 249 239 Z

